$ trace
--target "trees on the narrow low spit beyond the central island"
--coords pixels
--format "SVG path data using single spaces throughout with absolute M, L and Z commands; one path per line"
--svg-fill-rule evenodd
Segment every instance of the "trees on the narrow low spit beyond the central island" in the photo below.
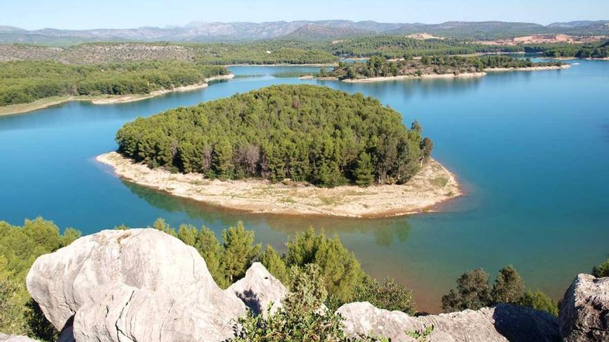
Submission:
M 526 68 L 531 66 L 558 66 L 561 62 L 534 63 L 531 59 L 518 59 L 505 55 L 482 57 L 423 56 L 420 59 L 390 61 L 373 56 L 365 63 L 340 62 L 330 73 L 320 71 L 320 76 L 338 79 L 363 79 L 369 77 L 421 76 L 481 72 L 488 68 Z

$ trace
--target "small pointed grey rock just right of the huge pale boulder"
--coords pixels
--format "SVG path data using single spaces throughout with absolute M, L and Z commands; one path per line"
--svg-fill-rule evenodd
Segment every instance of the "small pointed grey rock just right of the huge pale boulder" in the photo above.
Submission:
M 241 298 L 254 314 L 266 314 L 271 302 L 271 313 L 277 311 L 288 293 L 288 289 L 261 263 L 253 263 L 245 277 L 230 285 L 226 291 Z

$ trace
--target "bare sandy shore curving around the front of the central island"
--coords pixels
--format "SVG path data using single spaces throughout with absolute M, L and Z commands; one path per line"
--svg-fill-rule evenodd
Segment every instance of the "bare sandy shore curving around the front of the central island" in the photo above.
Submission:
M 455 176 L 431 159 L 407 184 L 374 187 L 313 187 L 265 180 L 208 180 L 203 175 L 170 173 L 135 164 L 111 152 L 99 162 L 113 167 L 121 178 L 173 196 L 190 198 L 254 213 L 322 215 L 349 218 L 401 216 L 428 211 L 434 205 L 461 196 Z

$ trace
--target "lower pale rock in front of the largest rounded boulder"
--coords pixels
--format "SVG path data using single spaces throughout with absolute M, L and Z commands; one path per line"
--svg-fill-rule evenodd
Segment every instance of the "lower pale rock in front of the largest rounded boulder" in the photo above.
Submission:
M 98 342 L 224 341 L 234 336 L 236 323 L 228 309 L 116 283 L 100 287 L 99 295 L 76 312 L 74 337 Z

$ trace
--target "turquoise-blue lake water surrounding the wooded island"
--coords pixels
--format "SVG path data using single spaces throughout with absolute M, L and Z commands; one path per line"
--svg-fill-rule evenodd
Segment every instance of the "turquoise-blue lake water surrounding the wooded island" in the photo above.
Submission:
M 233 67 L 235 79 L 201 91 L 0 117 L 0 219 L 17 225 L 44 216 L 85 234 L 158 217 L 217 232 L 242 220 L 258 241 L 280 249 L 312 225 L 340 235 L 370 274 L 415 289 L 419 310 L 437 311 L 462 272 L 484 267 L 494 276 L 505 264 L 558 298 L 578 272 L 609 257 L 609 62 L 576 62 L 567 70 L 375 84 L 294 77 L 318 68 Z M 433 155 L 467 195 L 440 213 L 408 218 L 252 215 L 122 182 L 94 161 L 116 149 L 116 130 L 139 115 L 278 83 L 362 92 L 400 111 L 406 124 L 419 120 Z

